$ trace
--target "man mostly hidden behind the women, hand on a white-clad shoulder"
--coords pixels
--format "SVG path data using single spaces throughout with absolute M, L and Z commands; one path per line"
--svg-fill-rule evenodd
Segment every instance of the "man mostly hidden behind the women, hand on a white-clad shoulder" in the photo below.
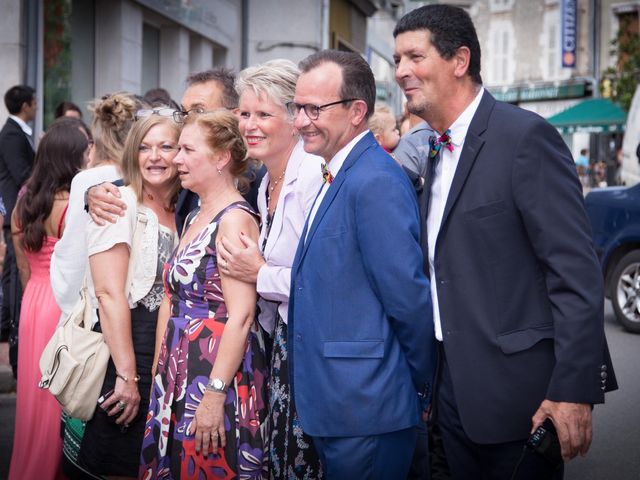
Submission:
M 182 123 L 190 114 L 198 114 L 225 108 L 235 111 L 238 108 L 238 94 L 235 90 L 235 76 L 226 68 L 214 68 L 203 72 L 192 73 L 186 80 L 187 89 L 182 96 L 182 110 L 172 108 L 145 109 L 138 112 L 138 116 L 164 115 Z M 257 211 L 258 186 L 264 176 L 265 169 L 250 168 L 247 172 L 251 182 L 250 190 L 244 195 L 245 199 Z M 88 209 L 96 223 L 114 221 L 115 216 L 121 214 L 125 207 L 117 196 L 118 189 L 110 184 L 92 187 L 88 191 Z M 184 220 L 191 210 L 198 206 L 198 196 L 183 189 L 176 203 L 176 226 L 182 231 Z

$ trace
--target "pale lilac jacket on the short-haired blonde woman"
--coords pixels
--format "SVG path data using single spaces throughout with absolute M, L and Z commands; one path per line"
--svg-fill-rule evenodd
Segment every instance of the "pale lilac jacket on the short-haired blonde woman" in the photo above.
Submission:
M 269 333 L 275 326 L 276 310 L 287 323 L 291 265 L 296 254 L 304 221 L 309 215 L 313 200 L 322 184 L 322 158 L 304 151 L 298 142 L 287 163 L 282 190 L 271 221 L 271 231 L 262 252 L 266 263 L 258 271 L 256 289 L 260 295 L 258 321 Z M 269 173 L 266 173 L 258 189 L 258 210 L 262 229 L 258 245 L 262 246 L 267 233 L 266 191 Z

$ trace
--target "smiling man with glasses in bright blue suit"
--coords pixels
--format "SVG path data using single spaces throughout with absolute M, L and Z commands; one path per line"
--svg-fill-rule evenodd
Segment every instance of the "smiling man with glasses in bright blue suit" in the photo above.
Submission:
M 288 108 L 326 181 L 292 267 L 292 396 L 328 479 L 406 478 L 436 358 L 415 194 L 367 130 L 362 57 L 325 50 L 300 70 Z

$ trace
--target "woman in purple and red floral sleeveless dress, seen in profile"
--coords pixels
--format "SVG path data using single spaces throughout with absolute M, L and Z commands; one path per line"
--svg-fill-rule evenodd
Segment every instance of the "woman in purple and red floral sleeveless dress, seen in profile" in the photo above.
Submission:
M 201 206 L 165 267 L 168 308 L 158 321 L 140 478 L 259 479 L 266 359 L 256 290 L 221 273 L 216 254 L 221 234 L 258 239 L 256 214 L 236 188 L 246 149 L 227 111 L 189 115 L 179 143 L 182 186 Z

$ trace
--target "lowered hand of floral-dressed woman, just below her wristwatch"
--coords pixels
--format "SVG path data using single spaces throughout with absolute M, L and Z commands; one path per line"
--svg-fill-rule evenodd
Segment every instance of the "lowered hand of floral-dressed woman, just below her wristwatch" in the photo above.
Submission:
M 215 452 L 218 446 L 224 448 L 227 444 L 224 430 L 224 401 L 226 395 L 205 390 L 202 401 L 196 409 L 193 422 L 189 427 L 190 435 L 195 430 L 196 453 Z

